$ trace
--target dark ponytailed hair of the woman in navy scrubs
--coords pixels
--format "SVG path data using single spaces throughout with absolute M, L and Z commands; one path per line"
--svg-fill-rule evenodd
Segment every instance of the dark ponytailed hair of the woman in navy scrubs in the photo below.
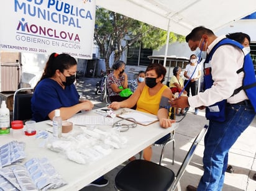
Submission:
M 77 63 L 75 58 L 68 54 L 63 53 L 58 55 L 57 53 L 52 53 L 49 56 L 47 63 L 45 64 L 45 69 L 39 82 L 45 78 L 52 78 L 57 69 L 60 70 L 61 73 L 63 73 L 65 69 L 69 69 L 71 66 L 74 66 L 76 64 Z

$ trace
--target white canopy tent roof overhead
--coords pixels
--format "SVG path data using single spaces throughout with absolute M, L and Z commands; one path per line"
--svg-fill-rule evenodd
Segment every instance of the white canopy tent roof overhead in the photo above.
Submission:
M 199 25 L 216 32 L 256 11 L 255 0 L 96 0 L 96 5 L 180 35 Z

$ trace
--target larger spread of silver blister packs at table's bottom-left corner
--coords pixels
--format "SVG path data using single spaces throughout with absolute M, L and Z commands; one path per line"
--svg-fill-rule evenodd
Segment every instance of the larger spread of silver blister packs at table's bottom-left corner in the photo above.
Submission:
M 24 165 L 0 169 L 2 190 L 48 190 L 66 185 L 46 158 L 33 158 Z

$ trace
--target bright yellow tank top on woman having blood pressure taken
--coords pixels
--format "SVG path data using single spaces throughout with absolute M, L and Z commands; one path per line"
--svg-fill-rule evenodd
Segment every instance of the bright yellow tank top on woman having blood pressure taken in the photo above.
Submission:
M 151 113 L 153 115 L 157 115 L 159 110 L 160 100 L 163 94 L 163 91 L 168 88 L 167 86 L 163 86 L 160 91 L 158 91 L 155 95 L 149 95 L 149 87 L 144 86 L 140 98 L 137 101 L 137 108 L 140 112 Z

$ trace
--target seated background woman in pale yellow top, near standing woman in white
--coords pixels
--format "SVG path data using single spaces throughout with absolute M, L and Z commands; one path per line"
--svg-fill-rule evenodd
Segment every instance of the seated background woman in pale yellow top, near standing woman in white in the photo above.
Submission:
M 184 87 L 183 79 L 180 77 L 181 74 L 181 68 L 179 66 L 176 66 L 173 68 L 173 76 L 170 79 L 170 89 L 173 94 L 176 92 L 180 93 Z M 175 94 L 176 95 L 176 94 Z M 183 91 L 183 95 L 186 95 L 186 91 Z M 178 108 L 176 108 L 176 115 L 184 115 L 184 109 L 182 108 L 180 111 Z

